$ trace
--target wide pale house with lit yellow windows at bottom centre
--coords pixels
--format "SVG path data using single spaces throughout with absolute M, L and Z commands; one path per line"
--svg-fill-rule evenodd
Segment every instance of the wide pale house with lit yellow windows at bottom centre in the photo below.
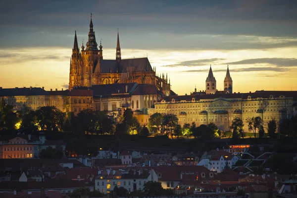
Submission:
M 143 190 L 144 185 L 149 181 L 158 181 L 157 175 L 152 169 L 99 170 L 95 180 L 95 190 L 106 194 L 117 186 L 127 189 L 130 193 L 136 190 Z

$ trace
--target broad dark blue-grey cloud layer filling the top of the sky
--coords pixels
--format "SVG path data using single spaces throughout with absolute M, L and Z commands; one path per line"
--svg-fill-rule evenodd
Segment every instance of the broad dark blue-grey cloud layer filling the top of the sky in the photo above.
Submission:
M 79 1 L 13 0 L 0 6 L 1 47 L 70 47 L 74 31 L 87 39 L 90 12 L 103 47 L 115 47 L 119 28 L 125 48 L 160 49 L 266 49 L 297 46 L 237 42 L 238 35 L 297 38 L 297 1 Z M 84 10 L 89 10 L 84 12 Z M 9 16 L 9 17 L 8 17 Z M 201 39 L 193 35 L 232 36 Z M 66 38 L 67 37 L 67 38 Z M 201 41 L 202 40 L 202 41 Z M 218 41 L 220 40 L 220 41 Z M 122 43 L 121 43 L 122 44 Z

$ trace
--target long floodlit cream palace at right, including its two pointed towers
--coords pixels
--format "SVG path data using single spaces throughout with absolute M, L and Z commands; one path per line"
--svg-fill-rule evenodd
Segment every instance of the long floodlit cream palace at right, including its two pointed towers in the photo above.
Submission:
M 235 117 L 240 117 L 245 123 L 247 118 L 260 116 L 264 127 L 267 127 L 267 123 L 272 119 L 281 122 L 297 114 L 297 91 L 232 93 L 229 68 L 224 80 L 224 91 L 216 90 L 216 80 L 211 67 L 205 83 L 205 92 L 197 92 L 195 88 L 191 95 L 163 97 L 155 103 L 154 108 L 148 109 L 149 115 L 175 114 L 182 126 L 193 122 L 197 126 L 215 123 L 219 129 L 229 131 Z

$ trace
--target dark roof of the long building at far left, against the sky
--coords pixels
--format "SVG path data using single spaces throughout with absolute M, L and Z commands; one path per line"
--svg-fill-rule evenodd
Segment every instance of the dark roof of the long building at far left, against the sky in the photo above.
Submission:
M 49 93 L 40 87 L 25 88 L 1 88 L 0 96 L 40 96 Z

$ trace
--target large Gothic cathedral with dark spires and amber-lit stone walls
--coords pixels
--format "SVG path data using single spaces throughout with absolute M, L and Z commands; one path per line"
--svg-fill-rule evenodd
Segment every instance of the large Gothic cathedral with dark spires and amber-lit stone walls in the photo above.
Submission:
M 170 79 L 167 74 L 156 76 L 155 67 L 152 68 L 148 58 L 122 59 L 119 33 L 115 60 L 104 60 L 100 42 L 96 42 L 94 25 L 90 22 L 88 42 L 81 50 L 78 47 L 75 31 L 72 57 L 70 60 L 69 90 L 75 87 L 92 87 L 100 84 L 133 83 L 154 84 L 164 95 L 170 95 Z

